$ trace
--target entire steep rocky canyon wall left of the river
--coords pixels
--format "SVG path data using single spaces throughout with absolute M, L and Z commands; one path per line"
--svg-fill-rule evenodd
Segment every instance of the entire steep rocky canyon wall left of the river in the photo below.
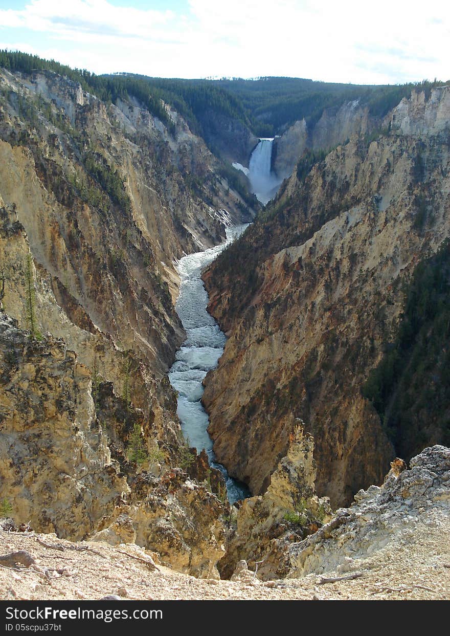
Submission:
M 174 259 L 252 211 L 168 107 L 170 130 L 50 71 L 0 88 L 0 497 L 38 531 L 217 576 L 222 484 L 165 376 L 184 338 Z

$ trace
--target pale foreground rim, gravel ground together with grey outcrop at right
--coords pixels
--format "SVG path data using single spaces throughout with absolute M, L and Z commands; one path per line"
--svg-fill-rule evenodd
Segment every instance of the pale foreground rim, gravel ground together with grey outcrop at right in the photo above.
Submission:
M 349 509 L 338 510 L 303 541 L 286 543 L 256 565 L 240 560 L 222 581 L 174 572 L 132 544 L 71 543 L 55 534 L 17 531 L 12 519 L 1 519 L 0 597 L 448 600 L 449 468 L 449 449 L 442 446 L 426 448 L 409 469 L 396 459 L 381 488 L 358 492 Z M 8 567 L 15 559 L 20 569 Z M 287 576 L 278 578 L 277 570 Z

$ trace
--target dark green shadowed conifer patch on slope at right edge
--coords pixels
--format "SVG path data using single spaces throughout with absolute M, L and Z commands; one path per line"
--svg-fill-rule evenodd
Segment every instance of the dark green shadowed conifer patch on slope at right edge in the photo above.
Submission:
M 450 242 L 421 261 L 407 286 L 397 337 L 371 371 L 370 399 L 400 457 L 450 444 Z

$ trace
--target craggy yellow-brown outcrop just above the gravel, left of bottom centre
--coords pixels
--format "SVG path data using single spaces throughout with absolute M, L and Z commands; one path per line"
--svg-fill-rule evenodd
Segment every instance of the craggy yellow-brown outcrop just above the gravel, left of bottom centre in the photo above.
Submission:
M 136 543 L 178 572 L 218 579 L 216 565 L 226 543 L 224 512 L 205 485 L 182 471 L 166 473 L 161 480 L 142 474 L 132 484 L 128 505 L 105 515 L 90 540 Z

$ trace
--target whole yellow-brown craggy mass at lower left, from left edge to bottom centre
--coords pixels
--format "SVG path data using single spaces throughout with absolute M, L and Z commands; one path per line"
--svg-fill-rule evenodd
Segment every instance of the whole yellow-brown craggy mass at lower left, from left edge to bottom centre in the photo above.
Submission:
M 225 508 L 207 485 L 170 469 L 174 422 L 167 431 L 151 418 L 142 426 L 148 459 L 137 471 L 127 449 L 139 410 L 106 385 L 94 401 L 92 374 L 64 341 L 30 338 L 3 312 L 0 389 L 0 498 L 17 522 L 74 541 L 137 543 L 175 569 L 218 576 Z

